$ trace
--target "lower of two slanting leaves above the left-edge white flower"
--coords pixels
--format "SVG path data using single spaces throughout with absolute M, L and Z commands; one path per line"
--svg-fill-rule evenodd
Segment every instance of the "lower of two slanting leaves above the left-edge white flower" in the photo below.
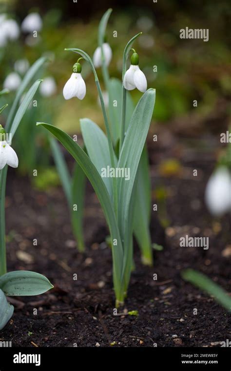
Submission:
M 27 108 L 29 107 L 29 104 L 31 103 L 40 83 L 42 80 L 37 80 L 33 83 L 33 85 L 30 87 L 28 92 L 26 93 L 22 103 L 19 105 L 19 109 L 16 112 L 15 118 L 13 120 L 12 124 L 9 124 L 9 127 L 6 126 L 5 130 L 6 132 L 12 133 L 12 138 L 20 124 L 21 119 L 23 118 Z

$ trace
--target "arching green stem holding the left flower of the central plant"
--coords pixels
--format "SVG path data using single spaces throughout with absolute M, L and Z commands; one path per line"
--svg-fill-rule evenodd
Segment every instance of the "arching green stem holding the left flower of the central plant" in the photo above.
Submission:
M 99 81 L 98 81 L 98 76 L 97 76 L 94 64 L 93 64 L 91 58 L 89 57 L 89 55 L 81 49 L 68 48 L 68 49 L 65 49 L 65 50 L 72 51 L 72 52 L 80 54 L 91 65 L 92 71 L 93 71 L 94 76 L 95 76 L 96 87 L 97 87 L 97 90 L 98 90 L 98 95 L 99 95 L 101 108 L 102 108 L 102 112 L 103 112 L 103 118 L 104 118 L 107 138 L 108 138 L 108 146 L 109 146 L 109 152 L 110 152 L 111 165 L 112 165 L 112 167 L 115 168 L 116 167 L 115 166 L 115 153 L 114 153 L 114 149 L 113 149 L 112 135 L 111 135 L 111 131 L 110 131 L 110 126 L 109 126 L 109 121 L 108 121 L 108 117 L 107 117 L 105 104 L 104 104 L 104 101 L 103 101 L 102 90 L 101 90 L 101 87 L 100 87 L 100 84 L 99 84 Z M 116 185 L 116 178 L 115 177 L 113 178 L 113 199 L 114 199 L 115 214 L 117 216 L 117 207 L 118 207 L 117 206 L 117 185 Z

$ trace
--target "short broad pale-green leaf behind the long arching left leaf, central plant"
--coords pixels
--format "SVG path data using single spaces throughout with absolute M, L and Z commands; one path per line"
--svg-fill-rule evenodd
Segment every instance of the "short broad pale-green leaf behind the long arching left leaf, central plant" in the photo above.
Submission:
M 111 167 L 107 137 L 100 127 L 90 119 L 81 119 L 80 126 L 88 156 L 101 176 L 102 168 L 107 169 L 107 166 Z M 116 163 L 117 160 L 115 156 L 115 164 Z M 108 190 L 111 200 L 113 200 L 112 178 L 102 177 L 102 180 Z

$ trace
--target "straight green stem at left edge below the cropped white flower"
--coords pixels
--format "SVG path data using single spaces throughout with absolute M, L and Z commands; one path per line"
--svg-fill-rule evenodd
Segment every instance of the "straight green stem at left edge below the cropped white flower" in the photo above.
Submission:
M 5 242 L 5 188 L 7 165 L 0 170 L 0 276 L 6 269 L 6 242 Z

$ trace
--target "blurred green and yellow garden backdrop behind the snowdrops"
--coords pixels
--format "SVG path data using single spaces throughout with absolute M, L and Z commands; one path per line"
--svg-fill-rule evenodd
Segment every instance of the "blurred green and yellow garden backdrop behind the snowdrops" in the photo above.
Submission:
M 27 131 L 33 132 L 35 141 L 42 147 L 39 164 L 47 164 L 45 155 L 48 143 L 45 134 L 36 129 L 35 123 L 48 122 L 57 125 L 70 134 L 79 132 L 79 119 L 89 117 L 101 127 L 103 120 L 98 104 L 93 74 L 86 62 L 82 63 L 82 75 L 87 86 L 83 101 L 65 101 L 62 89 L 72 73 L 77 55 L 64 51 L 64 48 L 78 47 L 90 56 L 97 47 L 98 23 L 103 13 L 113 8 L 107 27 L 107 41 L 113 50 L 109 66 L 111 77 L 121 79 L 123 50 L 130 38 L 142 31 L 143 35 L 135 42 L 139 53 L 139 66 L 145 73 L 148 87 L 156 88 L 156 103 L 150 135 L 164 132 L 162 144 L 171 149 L 169 135 L 187 139 L 187 146 L 213 150 L 219 143 L 219 135 L 228 129 L 231 117 L 229 105 L 231 95 L 231 55 L 230 55 L 230 16 L 229 1 L 221 0 L 129 0 L 129 1 L 60 1 L 36 0 L 0 1 L 0 87 L 10 93 L 2 99 L 11 104 L 20 80 L 26 70 L 39 57 L 46 56 L 49 62 L 39 70 L 37 78 L 45 79 L 38 92 L 36 109 L 27 112 Z M 37 16 L 28 21 L 28 15 Z M 8 25 L 9 37 L 3 38 L 4 19 L 14 22 Z M 181 28 L 208 28 L 209 41 L 201 39 L 180 39 Z M 32 30 L 37 29 L 34 37 Z M 117 37 L 114 37 L 117 31 Z M 157 66 L 157 71 L 154 70 Z M 14 78 L 12 77 L 12 73 Z M 97 70 L 104 90 L 101 70 Z M 17 75 L 17 77 L 16 77 Z M 141 93 L 131 92 L 136 103 Z M 197 101 L 197 106 L 193 102 Z M 2 116 L 6 118 L 7 110 Z M 26 118 L 25 118 L 26 120 Z M 24 125 L 24 127 L 25 127 Z M 167 130 L 167 131 L 165 131 Z M 167 134 L 166 134 L 167 133 Z M 19 151 L 34 146 L 28 143 L 24 130 L 17 133 Z M 161 138 L 160 138 L 161 140 Z M 23 147 L 24 146 L 24 147 Z M 178 149 L 169 153 L 167 172 L 176 170 L 175 156 Z M 216 148 L 215 148 L 216 151 Z M 218 148 L 218 152 L 220 149 Z M 156 161 L 160 151 L 155 153 Z M 216 154 L 217 155 L 217 154 Z M 36 153 L 25 159 L 21 156 L 19 170 L 28 172 L 36 163 Z M 218 156 L 218 155 L 217 155 Z M 56 179 L 56 177 L 55 177 Z

